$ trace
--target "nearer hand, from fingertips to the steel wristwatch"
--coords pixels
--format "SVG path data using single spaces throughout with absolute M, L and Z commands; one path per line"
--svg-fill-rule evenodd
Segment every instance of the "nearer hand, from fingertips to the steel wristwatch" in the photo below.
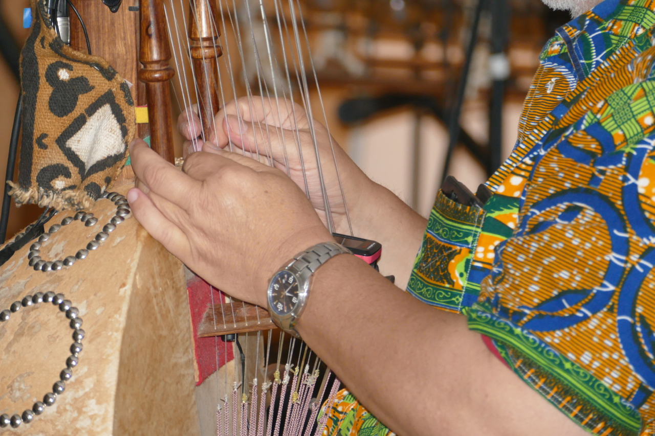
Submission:
M 296 253 L 332 241 L 286 174 L 228 151 L 198 152 L 182 171 L 136 139 L 134 217 L 191 270 L 232 297 L 266 306 L 268 282 Z

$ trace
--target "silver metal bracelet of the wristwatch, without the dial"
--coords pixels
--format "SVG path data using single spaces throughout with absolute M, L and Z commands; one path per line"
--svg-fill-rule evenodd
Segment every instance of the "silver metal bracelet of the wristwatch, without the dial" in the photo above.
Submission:
M 289 264 L 282 268 L 282 270 L 291 272 L 297 278 L 300 287 L 298 295 L 299 301 L 289 314 L 280 316 L 271 310 L 271 300 L 268 299 L 269 312 L 271 313 L 271 319 L 275 325 L 290 335 L 298 338 L 300 337 L 294 327 L 298 318 L 303 314 L 303 310 L 305 310 L 311 277 L 321 265 L 340 254 L 352 253 L 343 245 L 336 244 L 335 242 L 322 242 L 321 244 L 316 244 L 305 251 L 301 251 L 301 253 L 298 253 L 293 257 L 293 260 Z

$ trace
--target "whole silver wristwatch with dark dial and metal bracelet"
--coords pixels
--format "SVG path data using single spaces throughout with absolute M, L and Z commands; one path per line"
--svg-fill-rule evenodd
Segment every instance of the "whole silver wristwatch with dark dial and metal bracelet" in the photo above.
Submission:
M 322 264 L 340 254 L 350 254 L 350 251 L 334 242 L 322 242 L 295 255 L 287 266 L 273 275 L 268 302 L 275 325 L 300 338 L 294 327 L 305 310 L 312 275 Z

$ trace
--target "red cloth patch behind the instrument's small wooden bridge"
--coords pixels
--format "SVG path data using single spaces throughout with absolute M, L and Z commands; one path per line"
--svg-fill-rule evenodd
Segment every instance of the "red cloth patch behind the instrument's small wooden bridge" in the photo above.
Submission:
M 207 308 L 212 304 L 225 302 L 223 293 L 198 276 L 187 281 L 189 293 L 189 309 L 191 310 L 191 325 L 193 326 L 193 354 L 195 364 L 196 386 L 214 371 L 234 359 L 231 343 L 225 343 L 221 338 L 198 338 L 198 325 Z M 218 363 L 218 365 L 217 365 Z

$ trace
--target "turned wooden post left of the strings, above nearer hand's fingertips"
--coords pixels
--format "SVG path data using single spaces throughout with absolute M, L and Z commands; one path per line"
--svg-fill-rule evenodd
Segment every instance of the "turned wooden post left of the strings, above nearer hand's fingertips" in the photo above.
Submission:
M 159 0 L 141 0 L 141 48 L 139 79 L 145 83 L 148 100 L 151 147 L 168 162 L 174 163 L 170 79 L 175 75 L 168 65 L 170 46 L 166 31 L 164 4 Z

